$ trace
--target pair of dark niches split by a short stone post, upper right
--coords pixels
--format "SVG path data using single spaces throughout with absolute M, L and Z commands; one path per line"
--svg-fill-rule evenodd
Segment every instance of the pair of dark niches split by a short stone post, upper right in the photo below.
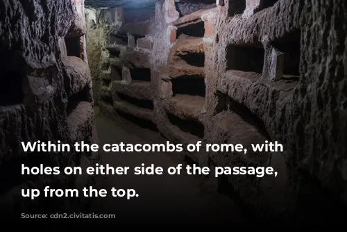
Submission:
M 226 69 L 243 72 L 240 76 L 262 82 L 291 80 L 300 76 L 301 33 L 296 31 L 270 42 L 266 47 L 257 44 L 229 44 Z

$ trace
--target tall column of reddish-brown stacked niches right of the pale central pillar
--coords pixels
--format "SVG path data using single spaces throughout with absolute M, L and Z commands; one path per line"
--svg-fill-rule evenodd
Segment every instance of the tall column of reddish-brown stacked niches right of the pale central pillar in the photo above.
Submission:
M 184 15 L 188 13 L 194 15 L 196 12 Z M 173 133 L 203 140 L 205 126 L 198 118 L 205 106 L 206 95 L 203 46 L 205 22 L 195 17 L 195 21 L 189 21 L 194 17 L 187 17 L 187 22 L 182 19 L 180 24 L 176 24 L 176 44 L 171 48 L 168 63 L 172 97 L 164 104 L 167 105 L 165 111 L 168 123 L 176 131 Z

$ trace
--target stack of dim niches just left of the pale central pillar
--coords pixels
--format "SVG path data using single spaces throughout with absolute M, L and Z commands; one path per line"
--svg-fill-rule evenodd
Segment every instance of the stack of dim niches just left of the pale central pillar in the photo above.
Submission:
M 110 65 L 103 86 L 107 90 L 100 101 L 111 107 L 119 118 L 157 130 L 152 122 L 151 69 Z

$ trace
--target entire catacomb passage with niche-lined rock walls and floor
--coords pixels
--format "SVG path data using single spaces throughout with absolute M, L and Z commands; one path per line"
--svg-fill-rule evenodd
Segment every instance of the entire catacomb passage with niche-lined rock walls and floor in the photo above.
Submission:
M 40 214 L 53 223 L 82 215 L 76 220 L 86 225 L 341 221 L 346 14 L 345 0 L 0 0 L 1 218 Z M 37 140 L 200 141 L 243 144 L 248 152 L 23 151 L 21 142 Z M 265 141 L 284 149 L 252 150 Z M 142 163 L 273 167 L 278 176 L 20 174 L 22 164 Z M 128 188 L 139 196 L 33 201 L 20 194 L 47 185 Z

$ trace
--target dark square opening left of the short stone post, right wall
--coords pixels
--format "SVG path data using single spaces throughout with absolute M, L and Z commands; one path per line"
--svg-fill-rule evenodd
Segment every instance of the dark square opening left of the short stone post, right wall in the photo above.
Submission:
M 262 74 L 265 53 L 263 47 L 230 44 L 227 49 L 227 70 Z

